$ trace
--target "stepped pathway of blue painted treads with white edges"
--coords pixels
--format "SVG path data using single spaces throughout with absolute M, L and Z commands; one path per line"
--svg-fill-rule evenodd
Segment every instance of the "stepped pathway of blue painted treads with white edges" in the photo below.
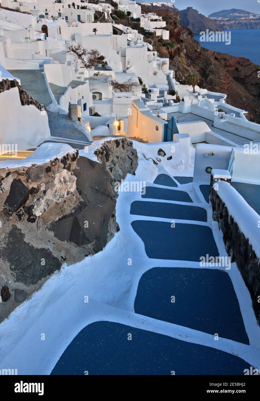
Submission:
M 151 260 L 135 313 L 104 310 L 102 321 L 69 344 L 53 375 L 244 375 L 249 361 L 256 364 L 259 350 L 249 345 L 225 267 L 198 266 L 201 256 L 217 257 L 219 250 L 206 209 L 185 189 L 191 181 L 159 174 L 131 203 L 131 226 Z

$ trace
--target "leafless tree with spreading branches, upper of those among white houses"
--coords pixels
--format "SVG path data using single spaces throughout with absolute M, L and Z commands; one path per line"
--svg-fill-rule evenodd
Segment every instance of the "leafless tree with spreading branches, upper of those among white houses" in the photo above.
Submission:
M 75 42 L 68 45 L 67 52 L 76 54 L 86 69 L 104 64 L 105 57 L 99 53 L 98 49 L 85 49 Z

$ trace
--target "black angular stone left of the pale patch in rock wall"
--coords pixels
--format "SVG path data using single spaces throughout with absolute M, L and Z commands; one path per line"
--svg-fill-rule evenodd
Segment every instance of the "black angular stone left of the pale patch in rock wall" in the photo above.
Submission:
M 21 180 L 14 179 L 10 185 L 10 191 L 4 202 L 4 209 L 8 213 L 15 213 L 20 209 L 29 198 L 29 189 Z

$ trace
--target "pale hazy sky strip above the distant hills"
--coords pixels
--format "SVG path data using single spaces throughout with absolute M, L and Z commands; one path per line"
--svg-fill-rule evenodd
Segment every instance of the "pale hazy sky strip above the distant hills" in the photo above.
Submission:
M 167 0 L 164 1 L 167 2 Z M 149 0 L 137 0 L 137 3 L 148 2 Z M 171 1 L 168 2 L 170 3 Z M 229 10 L 230 8 L 238 8 L 260 14 L 260 3 L 258 3 L 258 0 L 175 0 L 174 5 L 178 10 L 193 7 L 204 15 L 221 10 Z

